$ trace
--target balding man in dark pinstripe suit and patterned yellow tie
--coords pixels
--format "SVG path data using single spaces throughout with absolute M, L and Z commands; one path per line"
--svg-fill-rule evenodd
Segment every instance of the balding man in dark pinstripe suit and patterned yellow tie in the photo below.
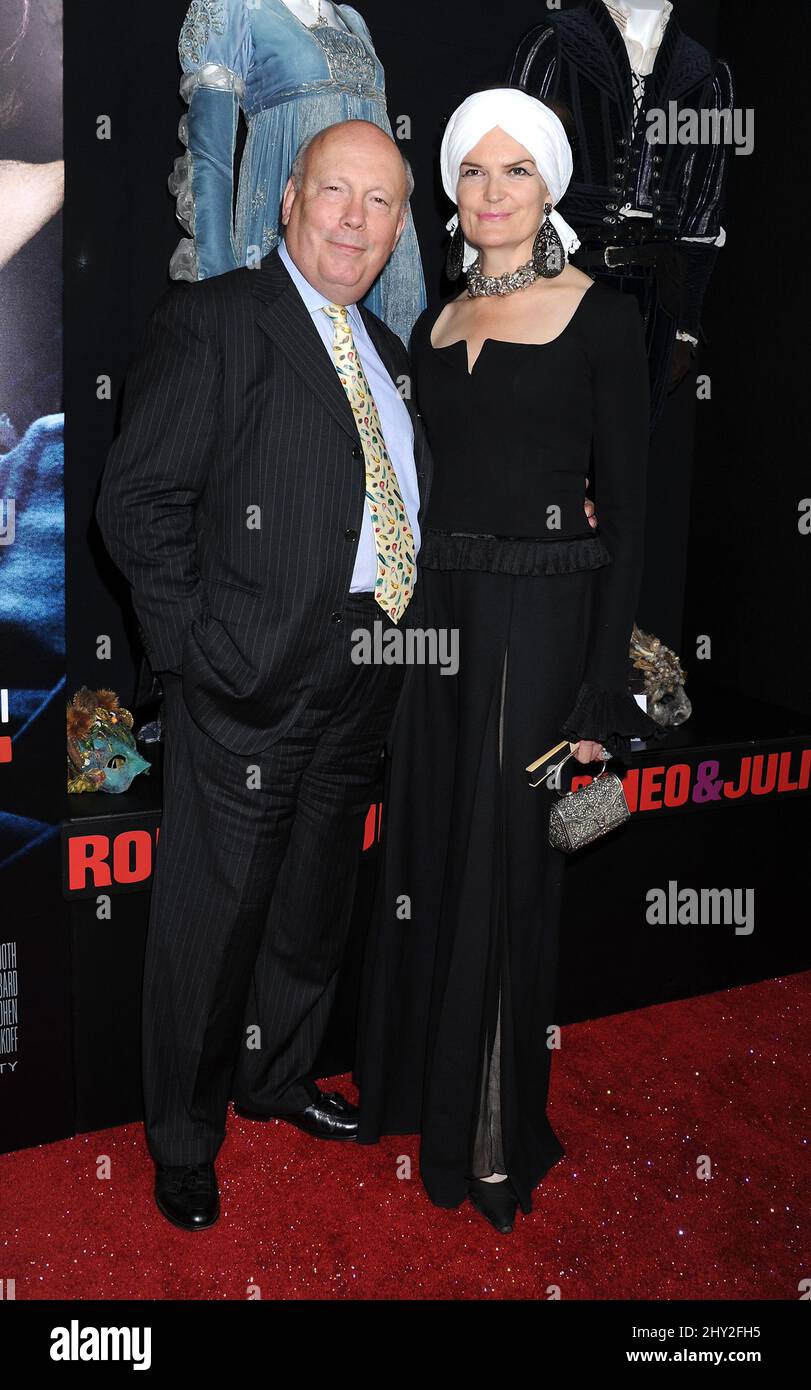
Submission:
M 334 995 L 402 666 L 355 664 L 374 600 L 364 452 L 324 304 L 346 304 L 419 546 L 431 460 L 406 350 L 363 309 L 408 217 L 410 171 L 376 125 L 299 153 L 285 242 L 256 270 L 172 282 L 128 374 L 97 503 L 164 682 L 164 809 L 143 994 L 156 1201 L 220 1212 L 228 1098 L 356 1137 L 312 1074 Z M 399 626 L 419 623 L 419 584 Z

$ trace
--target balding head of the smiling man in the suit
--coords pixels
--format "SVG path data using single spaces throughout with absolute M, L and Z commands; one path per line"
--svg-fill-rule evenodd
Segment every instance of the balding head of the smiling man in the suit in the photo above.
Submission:
M 412 188 L 396 142 L 370 121 L 339 121 L 305 140 L 281 204 L 305 278 L 335 303 L 363 299 L 402 235 Z

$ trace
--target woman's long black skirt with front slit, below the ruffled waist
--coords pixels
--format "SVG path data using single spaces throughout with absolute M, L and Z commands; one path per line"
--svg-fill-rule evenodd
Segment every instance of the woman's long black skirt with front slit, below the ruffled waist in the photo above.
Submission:
M 355 1077 L 360 1143 L 420 1133 L 440 1207 L 502 1172 L 529 1212 L 565 1154 L 547 1116 L 565 855 L 524 769 L 562 738 L 604 563 L 597 537 L 424 537 L 420 621 L 458 631 L 459 669 L 413 664 L 390 733 Z

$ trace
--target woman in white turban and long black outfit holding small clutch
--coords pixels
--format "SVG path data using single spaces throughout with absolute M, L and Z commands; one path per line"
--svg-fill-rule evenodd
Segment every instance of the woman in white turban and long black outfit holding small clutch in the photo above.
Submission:
M 632 297 L 566 263 L 576 238 L 548 213 L 570 167 L 558 117 L 523 92 L 477 93 L 445 131 L 449 260 L 479 260 L 410 352 L 435 466 L 420 624 L 458 630 L 459 667 L 412 666 L 395 713 L 359 1019 L 359 1141 L 420 1131 L 431 1201 L 470 1197 L 502 1232 L 565 1152 L 545 1112 L 565 856 L 524 769 L 565 735 L 597 773 L 657 730 L 627 688 L 643 328 Z

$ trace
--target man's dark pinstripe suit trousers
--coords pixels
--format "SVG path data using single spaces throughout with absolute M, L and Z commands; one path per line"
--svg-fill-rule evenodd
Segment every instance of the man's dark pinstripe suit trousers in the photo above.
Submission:
M 355 595 L 346 612 L 353 628 L 390 626 L 371 598 Z M 310 1099 L 402 677 L 398 666 L 351 666 L 348 645 L 335 644 L 294 728 L 246 758 L 198 727 L 179 677 L 167 676 L 143 974 L 145 1125 L 157 1162 L 213 1161 L 231 1094 L 267 1112 Z

